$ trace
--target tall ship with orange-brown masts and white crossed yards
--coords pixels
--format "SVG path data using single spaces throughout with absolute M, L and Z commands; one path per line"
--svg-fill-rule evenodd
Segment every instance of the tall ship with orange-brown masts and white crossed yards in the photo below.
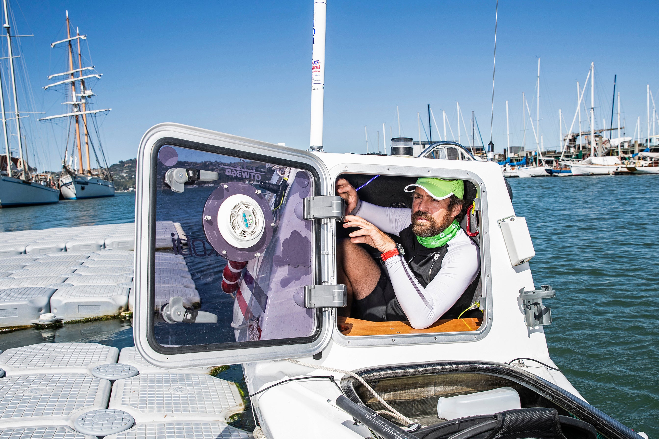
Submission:
M 105 153 L 103 153 L 101 138 L 98 132 L 98 124 L 96 123 L 96 115 L 98 113 L 107 113 L 111 109 L 91 109 L 92 102 L 90 99 L 94 96 L 94 92 L 86 80 L 91 80 L 91 78 L 100 79 L 101 73 L 96 72 L 94 66 L 82 66 L 82 55 L 80 53 L 81 39 L 87 39 L 87 36 L 80 35 L 78 28 L 76 28 L 76 35 L 71 36 L 71 22 L 69 21 L 69 11 L 67 11 L 67 38 L 55 41 L 51 44 L 51 47 L 60 44 L 68 46 L 69 70 L 63 73 L 52 74 L 48 76 L 48 79 L 59 79 L 61 76 L 65 78 L 68 76 L 68 78 L 56 80 L 56 82 L 45 86 L 44 89 L 48 90 L 49 88 L 63 86 L 67 90 L 69 101 L 63 102 L 62 105 L 71 105 L 71 111 L 63 115 L 47 116 L 39 120 L 70 118 L 72 120 L 71 126 L 75 126 L 76 165 L 72 166 L 74 163 L 74 151 L 69 156 L 69 143 L 67 142 L 64 154 L 65 158 L 62 161 L 62 176 L 59 179 L 59 189 L 62 197 L 65 199 L 112 197 L 115 195 L 115 185 L 107 167 Z M 77 66 L 75 65 L 76 61 L 74 60 L 73 53 L 74 41 L 78 49 Z M 96 134 L 96 145 L 94 145 L 90 130 L 94 130 Z M 85 161 L 83 161 L 82 155 L 82 138 L 84 138 L 84 151 L 86 153 L 84 155 Z M 90 145 L 96 158 L 96 168 L 92 168 L 90 163 Z M 96 153 L 96 147 L 98 147 L 101 153 L 103 166 L 101 166 L 98 154 Z M 84 166 L 85 164 L 86 167 Z

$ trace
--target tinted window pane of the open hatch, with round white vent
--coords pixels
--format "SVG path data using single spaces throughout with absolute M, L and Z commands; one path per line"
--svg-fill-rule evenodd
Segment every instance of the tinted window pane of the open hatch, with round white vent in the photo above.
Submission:
M 310 173 L 170 145 L 157 172 L 159 344 L 311 336 L 313 223 L 302 215 Z

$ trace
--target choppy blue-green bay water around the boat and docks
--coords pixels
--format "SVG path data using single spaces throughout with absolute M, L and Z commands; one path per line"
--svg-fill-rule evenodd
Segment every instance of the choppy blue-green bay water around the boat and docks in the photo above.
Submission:
M 546 327 L 552 358 L 588 402 L 658 438 L 659 176 L 509 182 L 515 212 L 527 218 L 536 249 L 530 262 L 536 286 L 550 284 L 557 291 L 547 301 L 554 318 Z M 0 209 L 0 231 L 132 222 L 133 209 L 130 194 Z M 181 223 L 196 232 L 196 218 Z M 190 271 L 195 264 L 188 261 Z M 196 283 L 204 298 L 205 282 Z M 210 297 L 204 301 L 219 305 Z M 132 331 L 128 321 L 117 320 L 0 333 L 0 349 L 60 341 L 123 348 L 132 346 Z M 242 382 L 237 366 L 220 376 Z M 248 413 L 237 426 L 253 428 Z

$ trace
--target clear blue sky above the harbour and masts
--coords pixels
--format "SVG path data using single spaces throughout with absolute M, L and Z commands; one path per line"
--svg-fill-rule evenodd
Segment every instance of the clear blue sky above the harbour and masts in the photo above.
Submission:
M 65 10 L 69 9 L 72 24 L 88 35 L 92 62 L 103 73 L 94 86 L 96 108 L 113 109 L 100 118 L 111 163 L 135 157 L 142 134 L 159 122 L 308 147 L 312 0 L 10 0 L 10 5 L 18 32 L 34 34 L 22 39 L 34 96 L 30 111 L 54 115 L 63 108 L 61 95 L 42 87 L 48 74 L 65 71 L 65 52 L 49 45 L 64 37 Z M 396 105 L 406 136 L 418 138 L 417 111 L 427 130 L 428 103 L 440 125 L 442 109 L 446 111 L 457 136 L 456 101 L 465 118 L 475 112 L 487 143 L 494 11 L 495 1 L 329 0 L 326 151 L 365 152 L 364 125 L 371 143 L 377 142 L 382 122 L 397 135 Z M 569 126 L 576 81 L 583 84 L 591 61 L 596 68 L 596 126 L 602 125 L 602 117 L 609 123 L 617 74 L 625 131 L 631 136 L 641 116 L 645 132 L 646 84 L 659 94 L 658 11 L 649 1 L 500 1 L 496 149 L 506 142 L 506 99 L 513 145 L 521 143 L 523 91 L 535 113 L 538 57 L 545 148 L 558 144 L 559 108 Z M 588 106 L 589 102 L 588 98 Z M 587 126 L 587 116 L 582 116 Z M 58 168 L 65 130 L 42 122 L 32 126 L 30 142 L 38 158 L 47 167 Z M 469 121 L 467 128 L 471 130 Z M 464 128 L 461 131 L 466 143 Z M 529 128 L 527 146 L 534 147 L 532 136 Z

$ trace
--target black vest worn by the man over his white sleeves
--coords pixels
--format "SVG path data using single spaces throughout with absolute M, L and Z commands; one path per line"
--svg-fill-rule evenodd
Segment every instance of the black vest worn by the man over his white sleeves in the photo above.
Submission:
M 412 232 L 412 224 L 407 228 L 403 229 L 399 234 L 401 238 L 401 245 L 405 250 L 405 261 L 414 273 L 416 280 L 421 284 L 423 288 L 426 288 L 440 269 L 442 268 L 442 259 L 446 255 L 446 252 L 449 249 L 448 244 L 442 245 L 441 247 L 428 248 L 422 245 L 416 239 L 416 235 Z M 440 317 L 440 319 L 457 319 L 457 317 L 473 305 L 474 293 L 476 292 L 476 287 L 478 286 L 478 280 L 480 280 L 480 271 L 478 276 L 474 279 L 471 284 L 467 287 L 467 290 L 460 296 L 459 299 L 449 308 L 448 311 Z M 469 311 L 463 315 L 463 317 L 476 317 L 472 316 Z

